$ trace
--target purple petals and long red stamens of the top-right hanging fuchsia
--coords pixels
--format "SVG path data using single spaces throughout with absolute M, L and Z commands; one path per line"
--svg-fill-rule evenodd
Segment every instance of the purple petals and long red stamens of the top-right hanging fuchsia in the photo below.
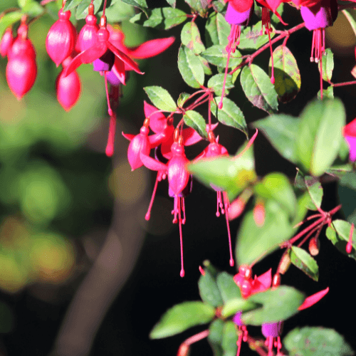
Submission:
M 323 54 L 325 53 L 325 28 L 333 26 L 337 18 L 337 1 L 321 0 L 311 6 L 300 6 L 305 27 L 313 31 L 310 62 L 320 62 L 320 97 L 323 99 Z

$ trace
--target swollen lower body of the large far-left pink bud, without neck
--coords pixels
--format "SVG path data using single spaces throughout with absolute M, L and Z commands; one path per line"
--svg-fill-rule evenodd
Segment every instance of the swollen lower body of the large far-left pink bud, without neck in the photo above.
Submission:
M 6 80 L 18 100 L 21 100 L 35 83 L 36 61 L 31 56 L 16 56 L 6 66 Z

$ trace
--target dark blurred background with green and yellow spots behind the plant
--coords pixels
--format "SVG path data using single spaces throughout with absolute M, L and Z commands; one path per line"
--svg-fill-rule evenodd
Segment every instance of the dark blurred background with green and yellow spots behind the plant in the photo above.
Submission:
M 165 6 L 163 1 L 147 2 Z M 16 6 L 16 0 L 2 0 L 0 11 L 11 6 Z M 300 23 L 298 12 L 285 7 L 283 19 L 290 25 Z M 164 340 L 151 341 L 148 334 L 167 308 L 199 299 L 202 261 L 209 259 L 219 269 L 235 273 L 229 267 L 226 224 L 224 217 L 215 216 L 216 194 L 194 181 L 183 226 L 186 276 L 180 278 L 179 231 L 172 224 L 173 200 L 168 197 L 167 182 L 159 184 L 151 219 L 145 221 L 155 172 L 145 167 L 131 172 L 128 141 L 121 132 L 136 135 L 142 126 L 143 100 L 147 100 L 143 87 L 161 85 L 176 100 L 179 93 L 193 93 L 177 69 L 182 25 L 164 32 L 122 22 L 127 46 L 168 36 L 176 41 L 161 55 L 140 61 L 145 75 L 130 73 L 117 110 L 115 154 L 109 159 L 105 156 L 109 117 L 103 77 L 90 65 L 80 66 L 78 104 L 66 112 L 56 100 L 55 82 L 61 68 L 56 68 L 45 48 L 53 22 L 46 14 L 29 28 L 38 75 L 21 101 L 9 90 L 6 59 L 0 59 L 0 355 L 176 355 L 180 343 L 204 327 Z M 197 24 L 204 41 L 204 20 L 198 18 Z M 80 28 L 83 21 L 77 25 Z M 327 46 L 335 53 L 333 81 L 353 80 L 355 34 L 343 14 L 328 28 L 327 37 Z M 281 112 L 298 115 L 318 93 L 319 72 L 309 61 L 311 38 L 303 29 L 288 40 L 302 86 L 295 100 L 280 105 Z M 268 59 L 266 51 L 256 64 L 267 70 Z M 246 121 L 266 117 L 246 102 L 237 87 L 229 98 L 241 104 Z M 352 120 L 355 86 L 335 88 L 335 96 L 345 104 L 347 120 Z M 205 116 L 206 109 L 201 109 Z M 244 134 L 235 129 L 219 125 L 216 132 L 231 155 L 244 142 Z M 187 157 L 194 158 L 205 146 L 199 142 L 190 147 Z M 258 135 L 255 154 L 259 175 L 279 171 L 294 177 L 293 165 L 263 135 Z M 336 204 L 336 184 L 328 184 L 323 209 Z M 335 217 L 342 217 L 342 212 Z M 233 237 L 240 222 L 231 221 Z M 356 313 L 351 304 L 355 261 L 342 256 L 323 233 L 321 244 L 319 283 L 293 266 L 283 283 L 307 294 L 330 286 L 330 293 L 288 320 L 285 334 L 296 325 L 323 325 L 345 335 L 356 349 L 352 323 Z M 254 272 L 276 268 L 280 256 L 279 251 L 273 253 Z M 261 334 L 251 328 L 251 335 Z M 244 352 L 249 355 L 246 347 Z M 212 353 L 207 342 L 201 341 L 192 347 L 191 355 Z

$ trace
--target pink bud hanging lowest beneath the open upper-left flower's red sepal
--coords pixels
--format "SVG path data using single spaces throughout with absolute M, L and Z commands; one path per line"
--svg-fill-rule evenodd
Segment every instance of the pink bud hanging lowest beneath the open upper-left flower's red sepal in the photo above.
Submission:
M 67 59 L 70 62 L 70 57 Z M 70 75 L 64 76 L 65 63 L 66 61 L 63 62 L 63 70 L 56 80 L 56 91 L 58 103 L 62 105 L 64 110 L 69 111 L 79 99 L 81 84 L 79 75 L 75 70 Z

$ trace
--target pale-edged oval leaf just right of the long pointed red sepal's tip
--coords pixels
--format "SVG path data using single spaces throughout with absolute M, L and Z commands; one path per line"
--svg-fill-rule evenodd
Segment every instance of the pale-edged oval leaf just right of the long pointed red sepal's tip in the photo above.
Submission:
M 201 88 L 204 85 L 203 66 L 199 58 L 186 46 L 179 48 L 178 69 L 184 82 L 192 88 Z

